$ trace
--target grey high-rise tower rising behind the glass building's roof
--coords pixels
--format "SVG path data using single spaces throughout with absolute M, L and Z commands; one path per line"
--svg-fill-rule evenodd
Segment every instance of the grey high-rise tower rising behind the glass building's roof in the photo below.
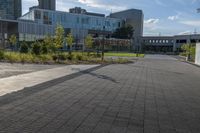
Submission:
M 40 9 L 56 10 L 56 0 L 38 0 Z

